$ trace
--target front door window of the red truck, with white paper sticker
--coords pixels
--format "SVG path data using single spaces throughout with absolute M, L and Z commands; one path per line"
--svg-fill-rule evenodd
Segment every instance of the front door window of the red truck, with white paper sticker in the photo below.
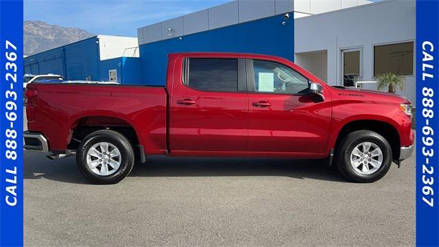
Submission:
M 254 60 L 253 68 L 256 92 L 286 94 L 308 92 L 308 79 L 283 64 Z

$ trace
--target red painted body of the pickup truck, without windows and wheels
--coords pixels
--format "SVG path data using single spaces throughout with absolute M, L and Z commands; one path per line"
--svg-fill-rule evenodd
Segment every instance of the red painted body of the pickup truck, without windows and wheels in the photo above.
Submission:
M 285 64 L 323 87 L 313 95 L 198 91 L 182 84 L 184 58 L 245 58 Z M 414 142 L 410 116 L 390 93 L 337 89 L 293 62 L 254 54 L 171 54 L 167 86 L 29 84 L 28 128 L 66 150 L 78 124 L 132 126 L 145 154 L 174 156 L 283 156 L 324 158 L 352 121 L 381 121 L 394 128 L 400 145 Z M 178 104 L 179 102 L 180 104 Z M 268 107 L 253 106 L 265 102 Z M 181 104 L 185 103 L 185 104 Z M 187 104 L 186 104 L 187 103 Z M 264 103 L 264 104 L 265 104 Z M 93 117 L 84 121 L 86 117 Z

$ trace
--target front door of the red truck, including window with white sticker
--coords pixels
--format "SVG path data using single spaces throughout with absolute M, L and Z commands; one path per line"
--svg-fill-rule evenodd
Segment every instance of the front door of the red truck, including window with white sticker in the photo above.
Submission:
M 308 78 L 279 62 L 246 60 L 246 66 L 248 151 L 324 152 L 331 124 L 329 92 L 316 102 Z

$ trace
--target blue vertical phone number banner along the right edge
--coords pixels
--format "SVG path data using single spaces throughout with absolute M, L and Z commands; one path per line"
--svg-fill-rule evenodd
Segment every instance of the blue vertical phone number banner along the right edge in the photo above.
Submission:
M 439 246 L 439 1 L 416 1 L 416 246 Z

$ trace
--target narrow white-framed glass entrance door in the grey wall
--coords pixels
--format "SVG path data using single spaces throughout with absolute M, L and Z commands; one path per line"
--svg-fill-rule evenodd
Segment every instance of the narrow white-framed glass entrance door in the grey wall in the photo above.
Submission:
M 342 85 L 355 86 L 356 82 L 361 81 L 363 76 L 362 69 L 363 49 L 344 49 L 342 50 Z

